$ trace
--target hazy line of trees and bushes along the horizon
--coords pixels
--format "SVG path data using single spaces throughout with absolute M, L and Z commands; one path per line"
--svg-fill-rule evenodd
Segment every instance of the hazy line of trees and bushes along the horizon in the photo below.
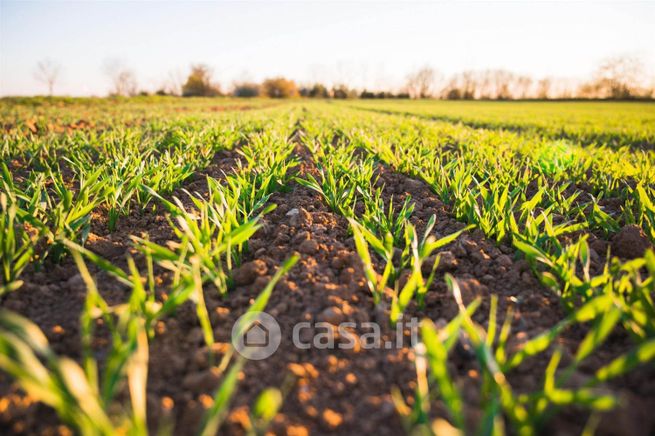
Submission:
M 61 68 L 52 60 L 37 64 L 34 77 L 46 85 L 52 95 Z M 321 83 L 300 85 L 285 77 L 268 78 L 261 83 L 236 82 L 228 91 L 213 79 L 212 70 L 204 64 L 192 65 L 184 77 L 169 74 L 155 94 L 183 97 L 269 98 L 438 98 L 449 100 L 525 100 L 525 99 L 653 99 L 655 82 L 647 83 L 645 69 L 639 59 L 628 56 L 608 58 L 598 65 L 585 81 L 557 78 L 534 79 L 503 69 L 463 71 L 446 77 L 425 66 L 405 78 L 398 90 L 371 91 L 355 89 L 347 84 L 327 86 Z M 119 61 L 107 62 L 104 72 L 110 79 L 110 95 L 134 96 L 149 94 L 139 91 L 134 72 Z M 652 80 L 652 79 L 651 79 Z

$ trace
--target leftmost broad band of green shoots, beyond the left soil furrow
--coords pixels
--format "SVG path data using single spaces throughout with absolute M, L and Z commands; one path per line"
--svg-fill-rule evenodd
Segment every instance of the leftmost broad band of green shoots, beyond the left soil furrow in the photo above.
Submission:
M 59 262 L 62 239 L 84 244 L 94 212 L 104 212 L 113 231 L 121 216 L 154 207 L 154 196 L 171 193 L 218 151 L 262 131 L 268 117 L 276 115 L 5 138 L 3 160 L 11 169 L 2 164 L 0 294 L 20 286 L 28 259 L 36 266 Z

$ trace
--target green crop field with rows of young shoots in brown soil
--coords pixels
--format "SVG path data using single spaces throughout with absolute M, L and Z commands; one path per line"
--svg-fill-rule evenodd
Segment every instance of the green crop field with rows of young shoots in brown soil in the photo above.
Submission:
M 652 103 L 0 117 L 2 434 L 655 432 Z

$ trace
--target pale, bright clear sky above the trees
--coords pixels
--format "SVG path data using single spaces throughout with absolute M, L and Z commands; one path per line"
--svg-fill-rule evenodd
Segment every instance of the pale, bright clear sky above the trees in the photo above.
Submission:
M 44 59 L 61 66 L 64 95 L 106 95 L 116 61 L 148 91 L 194 63 L 224 89 L 277 75 L 395 88 L 423 65 L 583 78 L 616 55 L 652 72 L 654 29 L 655 1 L 0 0 L 0 95 L 45 94 Z

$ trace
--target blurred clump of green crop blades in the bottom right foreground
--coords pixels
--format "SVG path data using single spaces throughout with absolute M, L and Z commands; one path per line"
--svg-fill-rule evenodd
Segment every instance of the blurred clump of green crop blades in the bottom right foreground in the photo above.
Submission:
M 491 300 L 488 327 L 484 329 L 472 320 L 479 300 L 465 307 L 456 280 L 447 276 L 446 281 L 458 302 L 460 313 L 442 328 L 437 328 L 430 320 L 421 323 L 422 343 L 418 344 L 416 350 L 416 366 L 419 377 L 417 397 L 422 398 L 422 413 L 417 413 L 417 410 L 412 412 L 400 396 L 395 396 L 397 409 L 408 428 L 423 428 L 437 434 L 438 429 L 446 428 L 464 434 L 490 434 L 498 431 L 504 433 L 505 423 L 508 423 L 513 433 L 538 434 L 562 407 L 578 407 L 593 413 L 602 413 L 616 407 L 618 398 L 608 393 L 607 389 L 598 389 L 598 385 L 626 374 L 638 365 L 655 360 L 655 343 L 650 339 L 601 366 L 583 386 L 571 388 L 569 379 L 585 359 L 605 342 L 613 327 L 624 315 L 625 307 L 616 298 L 606 295 L 590 300 L 550 330 L 528 340 L 520 349 L 513 351 L 508 347 L 512 329 L 511 306 L 500 331 L 497 331 L 498 300 L 494 296 Z M 590 324 L 591 328 L 578 346 L 571 363 L 566 368 L 559 369 L 562 351 L 554 347 L 555 340 L 566 328 L 582 323 Z M 450 352 L 463 337 L 470 341 L 482 373 L 478 383 L 481 403 L 475 406 L 482 412 L 475 423 L 477 429 L 470 428 L 472 423 L 465 418 L 466 408 L 474 406 L 464 402 L 464 396 L 448 365 Z M 515 392 L 507 375 L 535 356 L 548 358 L 543 356 L 547 352 L 550 354 L 549 365 L 541 378 L 541 388 L 527 393 Z M 429 369 L 429 376 L 425 375 L 426 367 Z M 421 378 L 424 378 L 425 382 L 421 383 Z M 430 385 L 434 385 L 440 400 L 446 406 L 446 421 L 443 418 L 437 418 L 433 422 L 429 420 L 429 402 L 434 398 L 428 395 Z

